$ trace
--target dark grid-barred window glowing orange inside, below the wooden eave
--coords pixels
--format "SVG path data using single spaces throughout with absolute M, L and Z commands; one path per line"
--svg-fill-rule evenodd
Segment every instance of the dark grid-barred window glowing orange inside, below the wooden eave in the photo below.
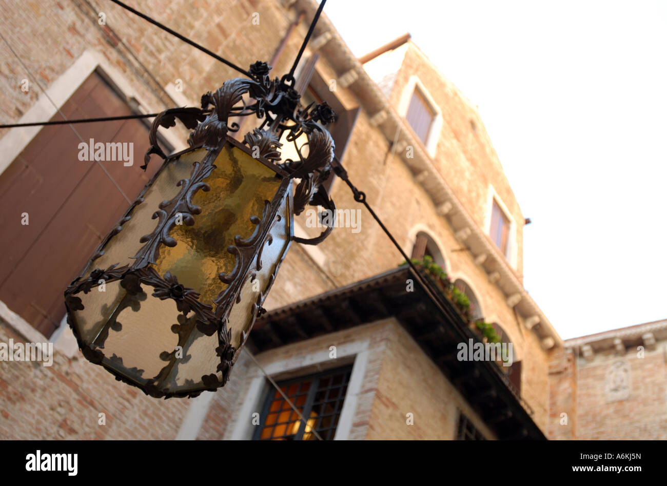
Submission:
M 352 366 L 277 383 L 305 423 L 281 393 L 271 387 L 253 440 L 315 441 L 313 430 L 325 441 L 333 439 L 351 373 Z

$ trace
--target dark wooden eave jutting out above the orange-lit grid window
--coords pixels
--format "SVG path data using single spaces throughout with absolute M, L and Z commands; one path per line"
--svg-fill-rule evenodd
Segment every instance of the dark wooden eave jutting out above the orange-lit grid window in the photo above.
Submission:
M 414 282 L 412 291 L 406 289 L 408 279 Z M 545 439 L 532 409 L 495 362 L 458 360 L 458 344 L 483 342 L 482 337 L 432 280 L 423 280 L 402 266 L 272 310 L 255 323 L 249 345 L 263 352 L 393 316 L 498 439 Z

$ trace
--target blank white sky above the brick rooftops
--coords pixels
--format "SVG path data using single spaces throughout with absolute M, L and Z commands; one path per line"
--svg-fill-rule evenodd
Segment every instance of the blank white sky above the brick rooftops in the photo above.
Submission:
M 532 219 L 524 285 L 563 338 L 667 318 L 667 0 L 324 11 L 358 56 L 410 32 L 479 106 Z

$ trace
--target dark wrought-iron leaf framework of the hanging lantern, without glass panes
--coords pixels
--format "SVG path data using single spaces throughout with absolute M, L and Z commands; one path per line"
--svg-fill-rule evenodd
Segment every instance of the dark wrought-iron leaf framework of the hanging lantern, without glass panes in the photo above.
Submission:
M 205 93 L 201 97 L 201 108 L 171 108 L 163 111 L 155 118 L 149 132 L 151 147 L 145 154 L 142 168 L 144 170 L 147 168 L 147 164 L 153 154 L 157 154 L 163 159 L 163 166 L 151 178 L 151 181 L 145 186 L 133 204 L 131 204 L 127 212 L 125 212 L 117 225 L 115 225 L 115 228 L 99 244 L 95 254 L 93 254 L 83 272 L 65 290 L 67 322 L 71 326 L 77 338 L 79 348 L 81 348 L 85 358 L 105 367 L 107 371 L 115 375 L 117 380 L 139 387 L 151 397 L 195 397 L 202 391 L 215 391 L 215 389 L 222 387 L 228 381 L 233 363 L 247 340 L 247 333 L 241 332 L 240 344 L 235 347 L 231 343 L 231 330 L 227 327 L 229 310 L 233 302 L 240 301 L 240 290 L 243 282 L 247 278 L 251 278 L 254 272 L 261 269 L 261 252 L 265 244 L 271 243 L 271 234 L 269 231 L 276 220 L 280 218 L 277 210 L 283 198 L 287 197 L 289 200 L 290 218 L 292 215 L 301 214 L 308 204 L 322 206 L 335 214 L 333 200 L 329 198 L 322 185 L 331 170 L 334 144 L 329 132 L 323 128 L 322 124 L 329 124 L 335 121 L 336 113 L 326 103 L 319 105 L 311 103 L 307 107 L 301 106 L 299 103 L 300 95 L 293 89 L 294 78 L 287 74 L 281 79 L 276 77 L 271 80 L 269 77 L 270 70 L 271 67 L 267 63 L 257 61 L 250 66 L 248 71 L 250 74 L 249 78 L 229 79 L 215 92 Z M 249 98 L 250 102 L 245 100 L 245 96 Z M 263 119 L 263 121 L 258 128 L 245 134 L 243 143 L 237 142 L 230 134 L 238 132 L 240 126 L 237 122 L 230 119 L 249 115 L 255 115 L 257 118 Z M 192 130 L 187 140 L 189 148 L 167 157 L 159 147 L 157 131 L 160 127 L 170 128 L 175 126 L 175 119 L 179 119 L 186 128 Z M 303 134 L 307 137 L 307 156 L 303 156 L 303 146 L 299 147 L 297 144 L 297 139 Z M 297 160 L 280 162 L 280 148 L 282 144 L 279 140 L 281 140 L 283 135 L 285 135 L 287 143 L 294 144 L 298 155 Z M 216 306 L 213 309 L 211 305 L 199 300 L 200 294 L 195 289 L 179 284 L 177 278 L 169 272 L 160 275 L 151 264 L 155 263 L 155 260 L 159 256 L 159 251 L 163 246 L 176 246 L 177 241 L 170 236 L 170 232 L 177 224 L 178 218 L 181 218 L 183 224 L 187 226 L 195 224 L 195 218 L 197 214 L 200 214 L 201 208 L 193 204 L 192 198 L 199 191 L 207 192 L 211 190 L 211 187 L 206 182 L 206 178 L 215 169 L 213 162 L 225 144 L 233 144 L 233 146 L 243 150 L 247 154 L 255 152 L 252 154 L 254 158 L 265 166 L 272 168 L 283 179 L 273 200 L 265 201 L 262 214 L 257 214 L 250 218 L 251 222 L 255 225 L 254 232 L 245 237 L 243 235 L 235 236 L 233 244 L 227 247 L 227 252 L 235 256 L 235 267 L 229 274 L 220 272 L 219 280 L 227 284 L 227 286 L 213 300 Z M 145 234 L 139 240 L 143 243 L 143 246 L 132 257 L 134 262 L 129 265 L 125 264 L 121 266 L 117 263 L 107 268 L 97 268 L 95 260 L 104 254 L 105 247 L 109 241 L 123 229 L 125 223 L 131 220 L 133 211 L 143 202 L 143 196 L 167 166 L 167 162 L 187 152 L 201 148 L 205 149 L 207 153 L 201 162 L 193 164 L 189 178 L 179 180 L 177 186 L 180 187 L 180 192 L 175 198 L 161 202 L 157 211 L 153 213 L 152 218 L 158 220 L 157 225 L 152 232 Z M 259 156 L 257 156 L 257 152 Z M 295 185 L 294 192 L 291 194 L 293 180 L 299 180 L 299 182 Z M 289 194 L 286 194 L 287 192 Z M 316 238 L 304 239 L 295 237 L 291 229 L 291 224 L 289 226 L 289 239 L 303 244 L 318 244 L 333 229 L 332 224 L 330 227 L 325 228 Z M 259 292 L 259 296 L 252 306 L 253 315 L 248 330 L 251 329 L 255 319 L 264 312 L 261 304 L 271 284 L 273 284 L 280 262 L 283 260 L 288 248 L 289 243 L 283 250 L 273 273 L 269 277 L 265 292 Z M 254 258 L 255 254 L 257 258 Z M 217 334 L 219 346 L 215 351 L 219 357 L 217 371 L 221 372 L 221 379 L 218 379 L 217 375 L 213 373 L 201 378 L 203 387 L 199 389 L 178 392 L 166 391 L 159 384 L 167 377 L 175 360 L 173 352 L 167 351 L 160 355 L 160 358 L 166 363 L 165 367 L 144 385 L 129 379 L 129 377 L 119 373 L 116 369 L 107 366 L 103 362 L 105 358 L 103 352 L 99 348 L 95 348 L 92 343 L 88 344 L 82 338 L 81 333 L 77 329 L 74 313 L 77 310 L 83 310 L 83 302 L 77 294 L 80 294 L 80 292 L 87 294 L 100 281 L 108 283 L 117 280 L 120 280 L 121 287 L 129 295 L 141 292 L 141 285 L 148 286 L 152 289 L 154 297 L 160 300 L 173 300 L 178 311 L 184 317 L 190 312 L 194 312 L 197 330 L 207 336 Z M 131 302 L 126 304 L 126 306 L 130 305 Z M 114 311 L 116 315 L 120 310 L 122 309 L 117 308 Z M 113 328 L 112 324 L 106 324 L 100 334 L 108 334 L 109 326 Z M 101 336 L 101 339 L 103 342 L 105 336 Z M 185 336 L 179 334 L 180 346 L 183 346 L 184 339 Z M 114 358 L 117 360 L 121 359 Z

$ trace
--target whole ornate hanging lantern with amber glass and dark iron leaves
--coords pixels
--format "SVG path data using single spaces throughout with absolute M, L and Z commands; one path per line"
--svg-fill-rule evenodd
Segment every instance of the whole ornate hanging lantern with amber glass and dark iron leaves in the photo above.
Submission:
M 325 103 L 301 107 L 293 78 L 271 81 L 269 70 L 257 61 L 250 79 L 203 95 L 201 109 L 155 119 L 145 164 L 158 154 L 163 166 L 65 290 L 83 355 L 152 397 L 223 386 L 290 242 L 331 232 L 295 238 L 293 215 L 306 204 L 334 209 L 320 184 L 333 141 L 317 122 L 336 115 Z M 241 144 L 229 118 L 247 115 L 263 121 Z M 193 130 L 190 148 L 167 158 L 157 129 L 176 118 Z M 283 134 L 298 160 L 279 163 Z M 296 142 L 304 134 L 307 157 Z

